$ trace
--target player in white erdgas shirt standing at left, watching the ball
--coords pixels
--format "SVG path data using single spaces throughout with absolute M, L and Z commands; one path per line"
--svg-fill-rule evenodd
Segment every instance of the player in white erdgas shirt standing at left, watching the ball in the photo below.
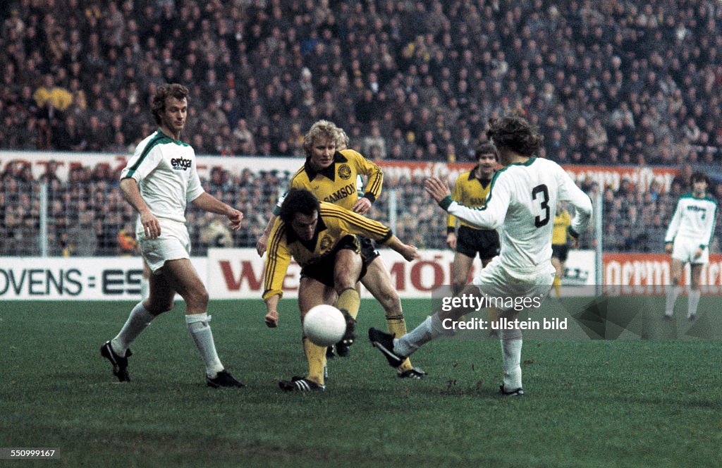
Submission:
M 118 381 L 130 381 L 129 346 L 150 321 L 173 308 L 175 293 L 186 301 L 186 324 L 206 365 L 206 384 L 217 388 L 244 386 L 221 364 L 206 314 L 208 292 L 191 264 L 186 204 L 225 215 L 232 230 L 243 214 L 206 194 L 196 170 L 196 153 L 181 142 L 188 116 L 188 89 L 163 84 L 152 98 L 152 115 L 160 126 L 144 139 L 121 173 L 123 197 L 139 214 L 136 238 L 152 274 L 149 296 L 138 303 L 118 335 L 100 347 Z

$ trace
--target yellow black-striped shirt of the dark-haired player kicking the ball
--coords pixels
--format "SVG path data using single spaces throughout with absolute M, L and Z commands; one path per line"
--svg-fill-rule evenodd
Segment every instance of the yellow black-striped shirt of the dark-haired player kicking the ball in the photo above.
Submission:
M 355 191 L 356 178 L 352 180 Z M 264 271 L 264 300 L 272 295 L 283 294 L 283 280 L 291 257 L 302 268 L 307 267 L 334 251 L 336 244 L 347 235 L 363 235 L 380 243 L 386 243 L 393 237 L 391 229 L 380 222 L 326 202 L 321 202 L 316 233 L 310 241 L 303 241 L 280 217 L 277 218 L 269 236 L 268 258 Z

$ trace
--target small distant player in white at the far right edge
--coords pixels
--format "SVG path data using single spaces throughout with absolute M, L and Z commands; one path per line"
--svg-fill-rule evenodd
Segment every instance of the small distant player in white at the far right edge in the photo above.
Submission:
M 692 287 L 687 296 L 687 319 L 697 317 L 702 267 L 709 263 L 709 245 L 715 230 L 717 202 L 707 194 L 710 179 L 696 172 L 690 177 L 692 191 L 682 195 L 664 236 L 665 249 L 672 254 L 672 285 L 667 290 L 664 318 L 671 319 L 674 303 L 682 290 L 684 264 L 690 264 Z

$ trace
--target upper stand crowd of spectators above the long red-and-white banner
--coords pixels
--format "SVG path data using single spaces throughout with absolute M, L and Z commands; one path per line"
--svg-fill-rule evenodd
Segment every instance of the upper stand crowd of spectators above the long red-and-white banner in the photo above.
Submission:
M 329 118 L 372 159 L 471 160 L 526 114 L 560 162 L 722 154 L 716 1 L 12 0 L 0 148 L 128 152 L 149 95 L 191 87 L 199 154 L 298 155 Z

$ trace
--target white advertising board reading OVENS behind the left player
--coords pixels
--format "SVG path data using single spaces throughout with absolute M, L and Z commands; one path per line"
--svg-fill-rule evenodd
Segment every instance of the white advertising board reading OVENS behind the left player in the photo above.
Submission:
M 191 259 L 201 278 L 206 258 Z M 137 300 L 139 257 L 0 257 L 3 300 Z

